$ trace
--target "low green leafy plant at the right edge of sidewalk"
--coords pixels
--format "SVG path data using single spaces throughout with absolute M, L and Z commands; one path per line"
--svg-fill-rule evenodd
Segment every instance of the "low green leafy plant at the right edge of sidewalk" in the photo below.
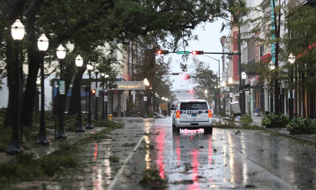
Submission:
M 287 125 L 290 134 L 316 134 L 316 119 L 294 117 Z

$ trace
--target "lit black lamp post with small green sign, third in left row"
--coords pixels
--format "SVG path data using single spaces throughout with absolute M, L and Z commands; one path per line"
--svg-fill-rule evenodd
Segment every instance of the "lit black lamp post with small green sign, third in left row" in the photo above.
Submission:
M 58 125 L 58 130 L 57 130 L 57 135 L 56 138 L 65 138 L 65 129 L 64 129 L 64 96 L 65 93 L 60 93 L 60 87 L 61 83 L 64 84 L 63 81 L 63 59 L 66 56 L 66 49 L 63 47 L 63 45 L 59 45 L 58 48 L 56 49 L 56 54 L 59 59 L 59 64 L 60 64 L 60 79 L 59 79 L 59 99 L 60 99 L 60 104 L 59 104 L 59 125 Z

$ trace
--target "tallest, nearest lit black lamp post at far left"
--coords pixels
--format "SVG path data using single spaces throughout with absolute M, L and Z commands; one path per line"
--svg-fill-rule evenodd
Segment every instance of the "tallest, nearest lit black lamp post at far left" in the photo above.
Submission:
M 14 118 L 12 119 L 12 136 L 9 148 L 7 150 L 8 155 L 14 155 L 20 152 L 23 152 L 21 146 L 21 137 L 19 137 L 19 128 L 20 128 L 20 109 L 19 109 L 19 91 L 20 91 L 20 60 L 19 60 L 19 47 L 21 40 L 24 37 L 25 28 L 19 19 L 16 19 L 11 26 L 11 35 L 15 41 L 15 88 L 14 88 Z M 22 129 L 21 134 L 22 134 Z

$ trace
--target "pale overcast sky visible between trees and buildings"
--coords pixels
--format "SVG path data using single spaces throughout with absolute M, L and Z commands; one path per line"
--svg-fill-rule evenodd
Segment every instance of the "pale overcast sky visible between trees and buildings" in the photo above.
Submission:
M 205 28 L 201 28 L 200 26 L 197 27 L 194 31 L 195 35 L 198 35 L 197 41 L 190 41 L 189 47 L 187 47 L 186 51 L 192 51 L 192 50 L 200 50 L 204 52 L 222 52 L 222 45 L 220 42 L 220 38 L 223 35 L 228 35 L 229 30 L 227 28 L 224 29 L 222 33 L 220 33 L 222 21 L 216 21 L 213 23 L 207 23 L 205 25 Z M 170 51 L 170 50 L 169 50 Z M 182 50 L 183 51 L 183 50 Z M 221 69 L 220 72 L 222 73 L 222 59 L 221 54 L 204 54 L 211 56 L 217 60 L 220 60 L 221 62 Z M 181 55 L 177 54 L 167 54 L 163 55 L 166 58 L 171 57 L 172 58 L 172 64 L 171 64 L 171 72 L 172 73 L 181 73 L 181 69 L 179 66 L 179 62 L 181 62 Z M 196 55 L 197 58 L 201 61 L 205 61 L 209 63 L 210 68 L 217 72 L 218 71 L 218 61 L 213 60 L 209 57 L 204 57 L 203 55 Z M 190 54 L 190 58 L 192 57 L 192 54 Z M 178 60 L 178 61 L 177 61 Z M 188 59 L 187 64 L 188 66 L 191 65 L 192 60 Z M 188 71 L 190 73 L 190 71 Z M 173 89 L 192 89 L 193 85 L 189 84 L 188 81 L 183 80 L 183 75 L 173 75 L 170 77 L 171 79 L 174 79 L 173 83 Z

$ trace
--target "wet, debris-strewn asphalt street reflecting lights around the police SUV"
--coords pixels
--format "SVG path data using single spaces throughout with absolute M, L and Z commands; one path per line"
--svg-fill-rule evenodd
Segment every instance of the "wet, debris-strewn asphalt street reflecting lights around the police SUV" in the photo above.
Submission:
M 84 175 L 46 188 L 144 189 L 142 172 L 158 169 L 168 180 L 167 189 L 316 189 L 313 146 L 257 130 L 180 130 L 173 135 L 170 117 L 116 121 L 125 122 L 125 128 L 86 147 L 91 151 L 82 159 L 92 164 L 82 168 Z

